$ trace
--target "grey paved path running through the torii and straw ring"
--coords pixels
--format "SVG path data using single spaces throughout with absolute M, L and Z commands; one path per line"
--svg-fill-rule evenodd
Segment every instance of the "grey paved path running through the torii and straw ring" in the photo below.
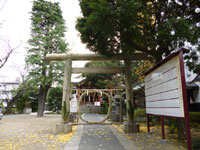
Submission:
M 100 121 L 98 114 L 85 114 L 88 121 Z M 65 150 L 137 150 L 136 146 L 111 125 L 79 125 Z

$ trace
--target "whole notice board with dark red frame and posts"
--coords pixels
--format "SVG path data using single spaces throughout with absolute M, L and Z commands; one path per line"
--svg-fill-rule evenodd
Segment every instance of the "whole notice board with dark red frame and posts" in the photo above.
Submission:
M 147 128 L 149 115 L 161 116 L 162 139 L 165 139 L 164 117 L 185 119 L 188 150 L 192 149 L 188 115 L 183 52 L 181 49 L 160 61 L 145 74 Z M 188 50 L 187 50 L 188 51 Z

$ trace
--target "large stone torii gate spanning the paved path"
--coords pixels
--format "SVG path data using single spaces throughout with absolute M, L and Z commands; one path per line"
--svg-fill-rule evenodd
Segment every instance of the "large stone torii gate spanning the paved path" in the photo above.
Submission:
M 62 105 L 66 102 L 67 111 L 70 111 L 70 91 L 71 91 L 71 74 L 72 73 L 125 73 L 126 85 L 126 107 L 130 109 L 129 104 L 133 100 L 132 77 L 131 77 L 131 60 L 147 60 L 149 57 L 142 53 L 133 53 L 131 55 L 116 54 L 113 57 L 106 57 L 99 54 L 47 54 L 47 61 L 65 61 L 64 85 Z M 125 67 L 107 67 L 107 68 L 72 68 L 72 61 L 112 61 L 123 60 Z M 133 105 L 133 102 L 132 102 Z M 134 106 L 133 106 L 134 107 Z M 135 127 L 133 118 L 127 113 L 127 125 L 125 132 L 135 132 L 139 127 Z M 137 129 L 135 129 L 137 128 Z

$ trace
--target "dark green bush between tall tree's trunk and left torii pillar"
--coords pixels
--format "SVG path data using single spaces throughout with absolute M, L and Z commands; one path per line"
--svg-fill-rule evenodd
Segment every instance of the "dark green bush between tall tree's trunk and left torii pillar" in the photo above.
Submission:
M 62 108 L 62 87 L 51 88 L 47 97 L 48 107 L 53 112 Z

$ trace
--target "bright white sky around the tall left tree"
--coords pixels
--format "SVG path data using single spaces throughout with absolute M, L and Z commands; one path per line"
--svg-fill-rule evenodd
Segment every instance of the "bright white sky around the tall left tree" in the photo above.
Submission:
M 0 81 L 15 81 L 24 71 L 27 40 L 30 39 L 30 12 L 33 0 L 0 0 L 0 56 L 5 47 L 16 48 L 6 65 L 0 69 Z M 63 11 L 67 32 L 66 42 L 70 53 L 91 53 L 81 43 L 75 29 L 76 19 L 81 16 L 78 0 L 49 0 L 59 2 Z M 74 67 L 83 67 L 84 63 L 73 62 Z

